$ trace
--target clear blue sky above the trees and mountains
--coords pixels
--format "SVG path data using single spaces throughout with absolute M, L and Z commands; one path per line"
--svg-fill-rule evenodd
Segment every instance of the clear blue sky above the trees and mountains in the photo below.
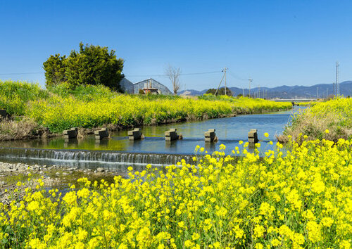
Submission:
M 42 63 L 78 44 L 114 49 L 132 82 L 170 63 L 232 72 L 230 87 L 313 85 L 352 79 L 352 1 L 0 0 L 0 79 L 45 84 Z M 42 72 L 42 74 L 13 74 Z M 233 77 L 235 75 L 236 77 Z M 217 87 L 221 72 L 182 75 L 182 89 Z M 165 77 L 153 77 L 170 87 Z M 239 79 L 241 78 L 241 79 Z

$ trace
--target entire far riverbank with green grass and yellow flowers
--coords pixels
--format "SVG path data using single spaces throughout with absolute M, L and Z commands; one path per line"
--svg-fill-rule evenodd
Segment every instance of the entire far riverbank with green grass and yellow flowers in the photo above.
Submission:
M 32 118 L 51 132 L 108 124 L 121 128 L 158 125 L 291 108 L 290 103 L 253 98 L 123 95 L 102 86 L 78 87 L 73 91 L 62 84 L 44 90 L 23 82 L 0 82 L 0 90 L 1 107 L 12 115 Z

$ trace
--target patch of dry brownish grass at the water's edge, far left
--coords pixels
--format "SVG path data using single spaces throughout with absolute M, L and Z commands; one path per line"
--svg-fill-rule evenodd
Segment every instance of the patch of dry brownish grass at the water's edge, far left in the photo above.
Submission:
M 32 139 L 42 135 L 37 122 L 31 118 L 22 120 L 0 120 L 0 141 Z

